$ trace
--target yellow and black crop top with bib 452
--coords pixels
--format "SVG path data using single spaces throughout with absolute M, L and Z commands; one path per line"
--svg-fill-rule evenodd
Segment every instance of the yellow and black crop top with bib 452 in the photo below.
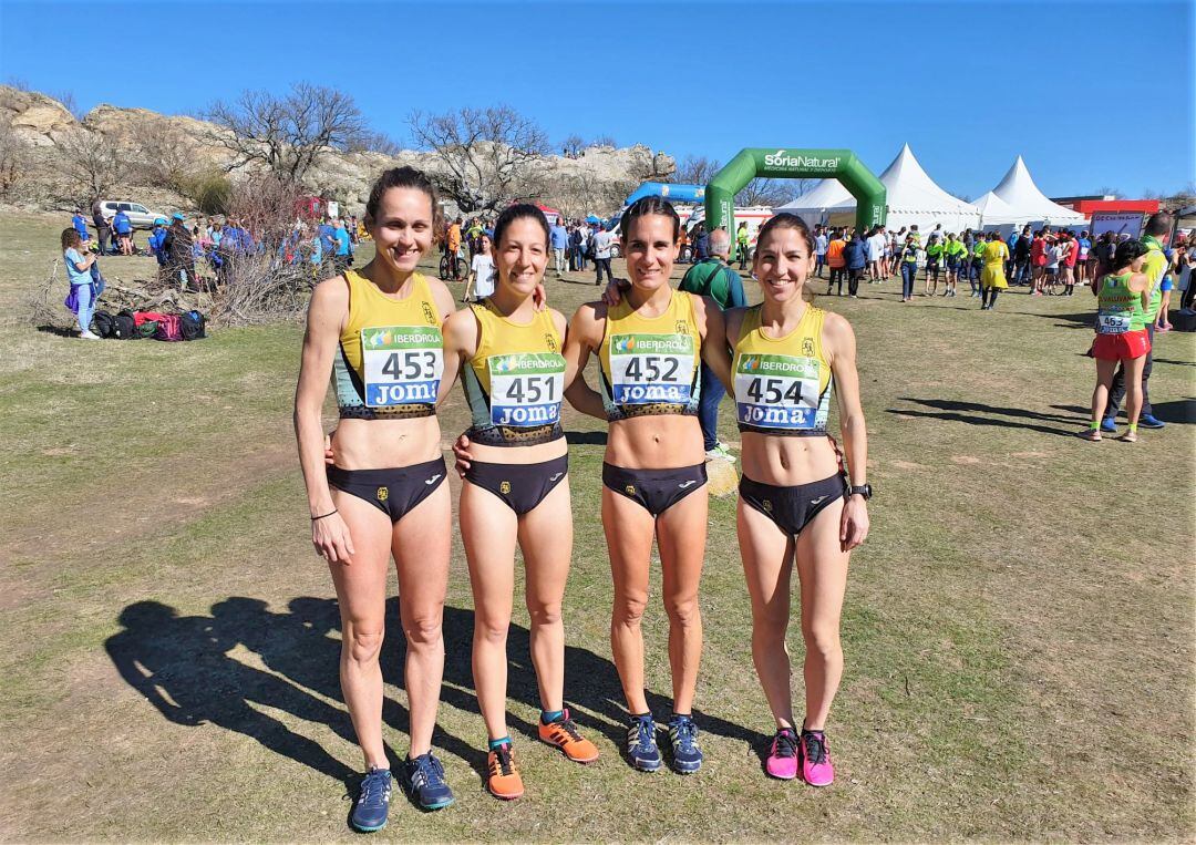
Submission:
M 697 414 L 702 334 L 694 294 L 673 291 L 659 317 L 645 317 L 627 297 L 606 311 L 598 359 L 608 420 Z

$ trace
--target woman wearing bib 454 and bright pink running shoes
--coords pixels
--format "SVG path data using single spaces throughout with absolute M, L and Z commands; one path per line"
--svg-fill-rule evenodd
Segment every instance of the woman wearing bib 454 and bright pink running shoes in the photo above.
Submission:
M 737 525 L 752 604 L 752 659 L 776 721 L 765 770 L 826 786 L 835 777 L 825 727 L 843 674 L 838 628 L 847 564 L 868 534 L 872 496 L 855 335 L 841 316 L 803 298 L 814 239 L 801 218 L 782 213 L 761 227 L 752 269 L 764 302 L 725 318 L 743 437 Z M 826 432 L 834 384 L 854 486 Z M 794 566 L 806 644 L 800 732 L 785 643 Z

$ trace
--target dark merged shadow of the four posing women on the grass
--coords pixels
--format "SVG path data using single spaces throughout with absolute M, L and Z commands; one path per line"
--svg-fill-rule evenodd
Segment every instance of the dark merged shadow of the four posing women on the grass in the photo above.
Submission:
M 398 600 L 386 603 L 388 636 L 382 667 L 386 682 L 403 687 L 404 638 Z M 213 604 L 210 616 L 179 616 L 163 603 L 136 602 L 120 615 L 123 630 L 105 643 L 121 676 L 171 722 L 206 722 L 250 736 L 270 750 L 336 778 L 352 794 L 360 774 L 331 756 L 316 741 L 294 732 L 260 712 L 266 706 L 301 719 L 328 725 L 355 744 L 348 713 L 323 698 L 342 700 L 340 687 L 340 613 L 335 598 L 300 596 L 287 610 L 274 613 L 258 598 L 233 596 Z M 474 692 L 471 643 L 472 610 L 445 607 L 445 675 L 441 703 L 478 715 L 476 736 L 466 742 L 437 728 L 433 743 L 469 765 L 484 779 L 486 729 Z M 231 657 L 243 645 L 270 671 Z M 538 710 L 539 695 L 531 662 L 527 628 L 512 624 L 507 642 L 508 699 Z M 566 646 L 566 703 L 582 728 L 624 744 L 627 711 L 615 664 L 587 649 Z M 315 693 L 315 694 L 313 694 Z M 323 697 L 323 698 L 321 698 Z M 671 701 L 648 692 L 648 705 L 658 718 L 669 715 Z M 768 736 L 695 710 L 698 725 L 712 734 L 749 743 L 757 753 Z M 386 697 L 383 722 L 409 734 L 410 718 L 403 704 Z M 508 727 L 529 740 L 538 736 L 535 719 L 507 713 Z M 405 750 L 405 749 L 404 749 Z M 388 747 L 392 764 L 402 754 Z

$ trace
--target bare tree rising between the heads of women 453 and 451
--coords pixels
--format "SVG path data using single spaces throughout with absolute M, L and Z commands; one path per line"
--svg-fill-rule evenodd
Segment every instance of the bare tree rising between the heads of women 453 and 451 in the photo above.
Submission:
M 416 142 L 434 152 L 444 168 L 432 177 L 465 212 L 498 208 L 526 195 L 532 164 L 548 153 L 539 124 L 508 105 L 441 115 L 413 111 L 408 124 Z

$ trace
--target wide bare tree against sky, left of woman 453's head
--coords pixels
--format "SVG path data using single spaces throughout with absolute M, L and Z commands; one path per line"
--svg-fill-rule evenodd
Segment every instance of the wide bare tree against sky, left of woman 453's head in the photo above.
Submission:
M 205 117 L 220 129 L 212 140 L 231 153 L 228 170 L 257 164 L 280 181 L 301 183 L 330 150 L 347 150 L 366 129 L 353 97 L 299 83 L 283 97 L 244 91 L 216 101 Z

